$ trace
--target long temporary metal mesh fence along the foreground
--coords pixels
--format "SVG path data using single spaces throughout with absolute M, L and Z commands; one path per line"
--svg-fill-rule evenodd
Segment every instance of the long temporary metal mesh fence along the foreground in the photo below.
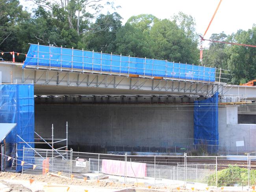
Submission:
M 256 185 L 256 156 L 113 155 L 24 148 L 22 173 L 60 174 L 77 179 L 147 179 L 208 186 Z M 120 177 L 121 176 L 121 177 Z

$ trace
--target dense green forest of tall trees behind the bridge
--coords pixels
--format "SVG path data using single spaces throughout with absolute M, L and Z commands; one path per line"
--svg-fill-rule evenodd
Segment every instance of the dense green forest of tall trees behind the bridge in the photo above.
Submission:
M 159 19 L 137 15 L 122 24 L 118 6 L 101 0 L 28 0 L 32 11 L 19 0 L 0 0 L 0 52 L 26 53 L 29 43 L 63 46 L 95 52 L 167 59 L 199 64 L 199 36 L 195 20 L 182 12 Z M 113 13 L 102 14 L 103 7 Z M 212 34 L 210 39 L 256 45 L 256 25 L 231 35 Z M 1 55 L 4 59 L 11 55 Z M 20 61 L 24 56 L 19 57 Z M 203 65 L 230 70 L 228 83 L 256 79 L 256 48 L 210 43 Z

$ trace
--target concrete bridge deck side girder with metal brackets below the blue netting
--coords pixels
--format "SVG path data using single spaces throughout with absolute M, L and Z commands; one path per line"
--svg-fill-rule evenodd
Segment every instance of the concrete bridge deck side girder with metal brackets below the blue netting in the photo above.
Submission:
M 89 70 L 84 72 L 59 68 L 0 62 L 2 83 L 33 83 L 36 95 L 236 95 L 256 98 L 256 87 L 228 85 L 192 79 L 152 78 Z M 2 76 L 2 77 L 1 77 Z

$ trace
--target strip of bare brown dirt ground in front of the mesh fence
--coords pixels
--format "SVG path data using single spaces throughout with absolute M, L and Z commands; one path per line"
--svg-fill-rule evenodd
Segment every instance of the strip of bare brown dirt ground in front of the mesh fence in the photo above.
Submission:
M 150 186 L 147 184 L 141 184 L 141 183 L 121 183 L 118 181 L 114 181 L 111 179 L 87 179 L 86 181 L 82 179 L 70 179 L 70 178 L 63 178 L 59 176 L 54 176 L 52 174 L 47 175 L 31 175 L 31 174 L 19 174 L 19 173 L 11 173 L 11 172 L 0 172 L 0 183 L 3 185 L 6 185 L 11 188 L 11 192 L 32 192 L 29 188 L 26 188 L 25 186 L 17 183 L 11 183 L 12 180 L 22 180 L 22 183 L 24 181 L 29 183 L 29 180 L 33 179 L 37 182 L 44 182 L 49 185 L 54 184 L 60 184 L 60 185 L 72 185 L 72 186 L 91 186 L 94 188 L 101 188 L 103 187 L 103 191 L 106 187 L 106 189 L 113 188 L 118 190 L 122 190 L 125 188 L 134 188 L 136 192 L 156 192 L 156 191 L 192 191 L 190 188 L 184 188 L 180 186 L 179 190 L 177 190 L 176 186 L 172 186 L 171 184 L 169 186 Z M 6 180 L 6 181 L 4 181 Z M 144 188 L 144 189 L 143 189 Z M 206 191 L 206 190 L 197 190 L 193 189 L 195 191 Z M 97 190 L 96 190 L 97 191 Z M 102 190 L 101 190 L 102 191 Z M 214 189 L 209 188 L 209 192 L 216 191 Z M 0 189 L 0 192 L 2 190 Z M 43 192 L 43 190 L 37 190 L 34 192 Z

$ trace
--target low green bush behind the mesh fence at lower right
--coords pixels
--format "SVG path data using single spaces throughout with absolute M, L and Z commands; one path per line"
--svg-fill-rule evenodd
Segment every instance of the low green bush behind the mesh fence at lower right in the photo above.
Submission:
M 251 185 L 256 183 L 256 170 L 250 170 Z M 248 185 L 247 168 L 229 165 L 228 168 L 217 172 L 218 187 L 220 186 L 246 186 Z M 209 186 L 216 186 L 216 174 L 210 175 L 208 178 Z

